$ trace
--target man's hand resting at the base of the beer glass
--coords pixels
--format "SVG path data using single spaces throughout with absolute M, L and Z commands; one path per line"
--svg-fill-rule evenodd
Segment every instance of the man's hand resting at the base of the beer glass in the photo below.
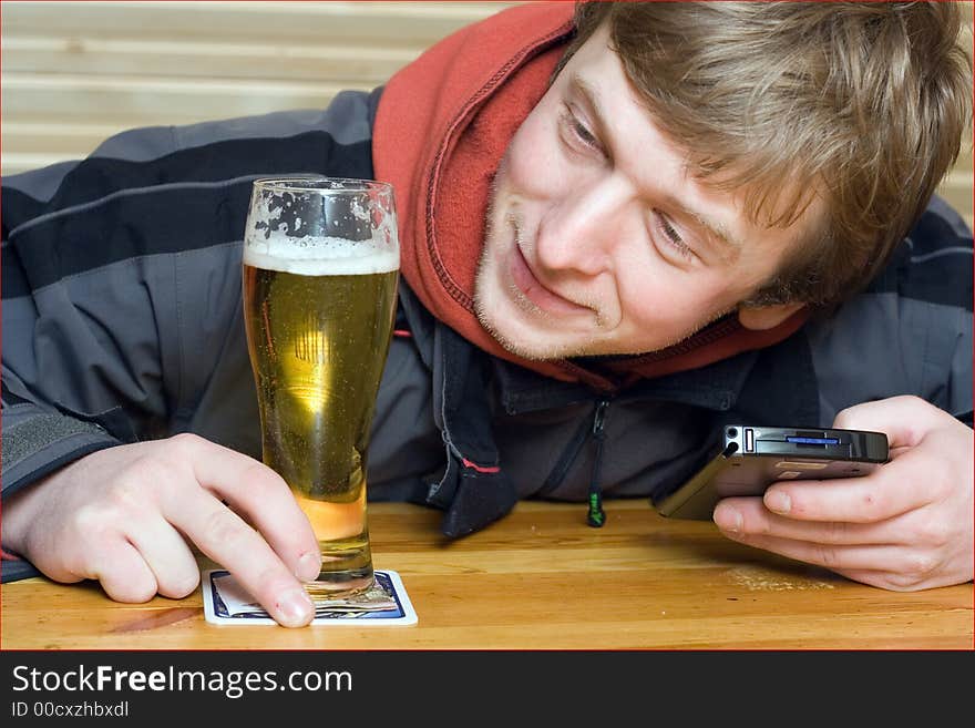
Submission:
M 199 584 L 185 540 L 286 627 L 314 616 L 301 586 L 321 556 L 287 483 L 193 434 L 86 455 L 3 501 L 3 545 L 58 582 L 93 578 L 119 602 Z

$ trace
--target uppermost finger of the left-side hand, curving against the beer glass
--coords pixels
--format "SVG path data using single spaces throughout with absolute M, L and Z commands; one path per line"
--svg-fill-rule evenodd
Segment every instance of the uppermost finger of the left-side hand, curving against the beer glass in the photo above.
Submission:
M 201 438 L 187 439 L 185 462 L 197 482 L 226 500 L 260 532 L 299 580 L 318 577 L 321 553 L 288 484 L 264 463 Z

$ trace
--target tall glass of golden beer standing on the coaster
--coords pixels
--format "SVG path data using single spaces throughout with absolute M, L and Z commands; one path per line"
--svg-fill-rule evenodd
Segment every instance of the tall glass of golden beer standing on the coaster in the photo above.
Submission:
M 254 183 L 244 315 L 263 457 L 318 536 L 316 593 L 372 585 L 366 469 L 398 270 L 390 185 L 328 177 Z

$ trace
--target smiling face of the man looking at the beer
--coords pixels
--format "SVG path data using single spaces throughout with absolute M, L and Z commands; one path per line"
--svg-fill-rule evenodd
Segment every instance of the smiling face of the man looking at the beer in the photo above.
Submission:
M 733 310 L 800 225 L 757 227 L 665 139 L 601 29 L 512 139 L 494 181 L 474 301 L 531 359 L 640 353 Z M 739 309 L 768 328 L 798 306 Z

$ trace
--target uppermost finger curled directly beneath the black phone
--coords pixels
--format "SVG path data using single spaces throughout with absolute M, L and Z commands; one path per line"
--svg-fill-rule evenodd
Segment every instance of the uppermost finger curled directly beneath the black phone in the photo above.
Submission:
M 876 523 L 923 507 L 932 491 L 909 484 L 916 479 L 907 459 L 891 461 L 860 478 L 779 481 L 762 496 L 772 513 L 797 521 Z

